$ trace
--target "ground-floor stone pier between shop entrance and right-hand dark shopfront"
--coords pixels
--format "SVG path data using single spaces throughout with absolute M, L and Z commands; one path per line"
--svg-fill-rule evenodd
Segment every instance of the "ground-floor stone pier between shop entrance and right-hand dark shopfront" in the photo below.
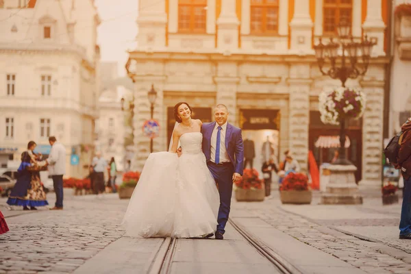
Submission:
M 308 170 L 308 125 L 312 83 L 309 71 L 308 64 L 293 64 L 290 69 L 290 78 L 287 80 L 290 90 L 288 148 L 299 162 L 303 172 Z

